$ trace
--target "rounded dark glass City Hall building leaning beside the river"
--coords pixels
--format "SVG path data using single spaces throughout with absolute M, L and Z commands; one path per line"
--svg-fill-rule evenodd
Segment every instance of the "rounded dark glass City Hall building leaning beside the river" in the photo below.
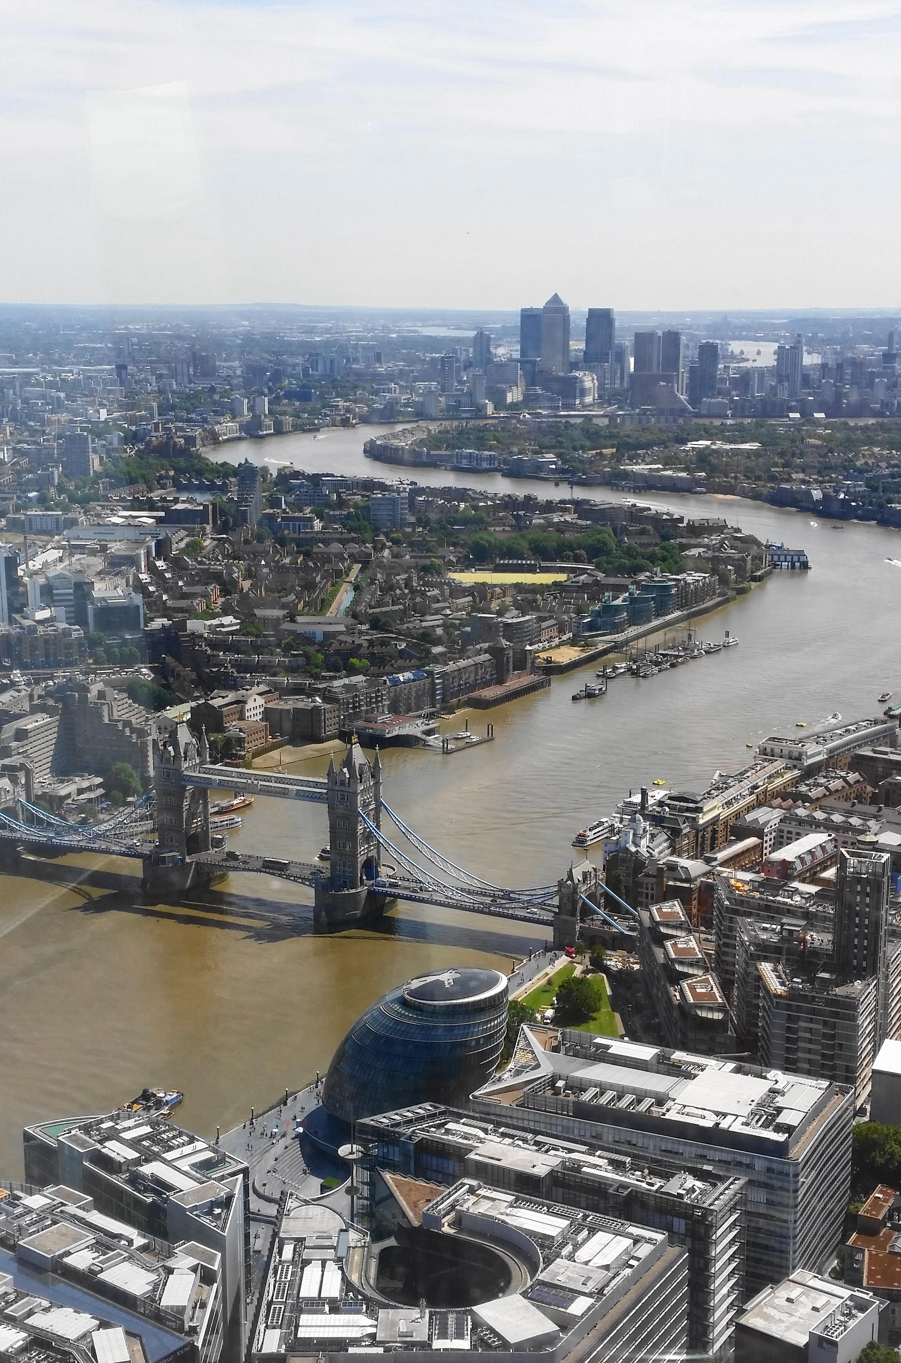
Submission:
M 414 1103 L 463 1103 L 495 1073 L 506 1030 L 499 970 L 408 980 L 353 1024 L 329 1066 L 323 1107 L 354 1122 Z

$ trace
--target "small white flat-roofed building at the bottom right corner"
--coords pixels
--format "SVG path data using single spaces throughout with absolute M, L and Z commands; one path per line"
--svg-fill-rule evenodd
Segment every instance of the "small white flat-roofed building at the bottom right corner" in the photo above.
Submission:
M 871 1292 L 792 1273 L 748 1302 L 735 1328 L 735 1363 L 856 1363 L 879 1338 L 881 1310 Z

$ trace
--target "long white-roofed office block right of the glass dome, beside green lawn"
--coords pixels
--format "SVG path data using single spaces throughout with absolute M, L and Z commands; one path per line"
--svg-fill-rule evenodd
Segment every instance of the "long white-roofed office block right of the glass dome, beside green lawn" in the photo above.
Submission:
M 529 1060 L 525 1045 L 532 1050 Z M 746 1281 L 815 1268 L 838 1240 L 853 1093 L 825 1079 L 583 1032 L 521 1030 L 470 1108 L 493 1122 L 748 1180 Z

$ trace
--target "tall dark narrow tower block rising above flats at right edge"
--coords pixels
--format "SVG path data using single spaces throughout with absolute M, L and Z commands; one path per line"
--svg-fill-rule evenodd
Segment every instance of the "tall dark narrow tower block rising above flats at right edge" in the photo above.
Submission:
M 853 980 L 879 975 L 886 955 L 891 859 L 841 851 L 836 878 L 836 965 Z

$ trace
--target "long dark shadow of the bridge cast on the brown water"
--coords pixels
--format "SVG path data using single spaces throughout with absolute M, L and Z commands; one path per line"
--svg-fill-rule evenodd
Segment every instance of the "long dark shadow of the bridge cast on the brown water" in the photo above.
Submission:
M 438 919 L 406 917 L 403 904 L 398 904 L 386 917 L 364 920 L 350 928 L 329 932 L 316 930 L 312 904 L 279 902 L 270 897 L 236 894 L 217 889 L 189 891 L 172 904 L 154 902 L 143 897 L 140 883 L 134 875 L 31 857 L 20 859 L 12 874 L 79 894 L 79 902 L 71 906 L 74 913 L 90 916 L 129 913 L 158 921 L 179 923 L 183 927 L 234 932 L 245 940 L 260 945 L 275 945 L 303 936 L 341 938 L 350 934 L 365 934 L 395 938 L 398 942 L 420 942 L 521 957 L 528 955 L 529 950 L 537 946 L 544 946 L 551 932 L 548 927 L 537 924 L 532 932 L 528 924 L 522 924 L 522 932 L 499 932 L 487 916 L 483 927 L 476 915 L 466 913 L 461 913 L 459 924 Z M 87 889 L 101 893 L 86 895 Z M 85 894 L 83 898 L 82 894 Z M 417 910 L 421 912 L 418 905 Z

